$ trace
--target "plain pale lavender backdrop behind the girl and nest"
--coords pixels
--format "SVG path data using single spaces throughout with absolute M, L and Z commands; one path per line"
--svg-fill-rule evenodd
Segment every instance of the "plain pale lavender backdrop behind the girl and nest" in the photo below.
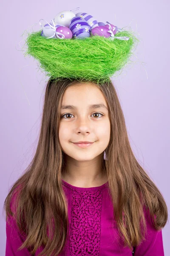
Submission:
M 3 7 L 2 7 L 3 6 Z M 0 94 L 0 204 L 9 187 L 30 163 L 37 146 L 43 89 L 48 78 L 37 61 L 21 51 L 25 30 L 40 30 L 39 20 L 50 22 L 58 12 L 80 7 L 100 22 L 119 28 L 130 26 L 140 43 L 129 64 L 114 78 L 125 114 L 129 139 L 136 158 L 149 173 L 170 206 L 170 84 L 169 10 L 167 0 L 74 1 L 1 0 L 1 94 Z M 6 25 L 3 25 L 6 24 Z M 126 28 L 125 28 L 126 29 Z M 23 40 L 23 41 L 22 41 Z M 21 41 L 21 42 L 20 42 Z M 20 45 L 19 45 L 20 43 Z M 20 47 L 21 46 L 21 47 Z M 0 255 L 5 255 L 6 223 L 0 218 Z M 169 255 L 170 225 L 163 229 L 164 253 Z

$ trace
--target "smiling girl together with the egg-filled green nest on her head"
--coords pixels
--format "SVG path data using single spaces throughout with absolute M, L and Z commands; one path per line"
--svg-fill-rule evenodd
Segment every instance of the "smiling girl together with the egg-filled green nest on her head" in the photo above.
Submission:
M 37 150 L 4 203 L 6 256 L 164 256 L 167 205 L 110 79 L 136 40 L 73 10 L 28 36 L 50 79 Z

